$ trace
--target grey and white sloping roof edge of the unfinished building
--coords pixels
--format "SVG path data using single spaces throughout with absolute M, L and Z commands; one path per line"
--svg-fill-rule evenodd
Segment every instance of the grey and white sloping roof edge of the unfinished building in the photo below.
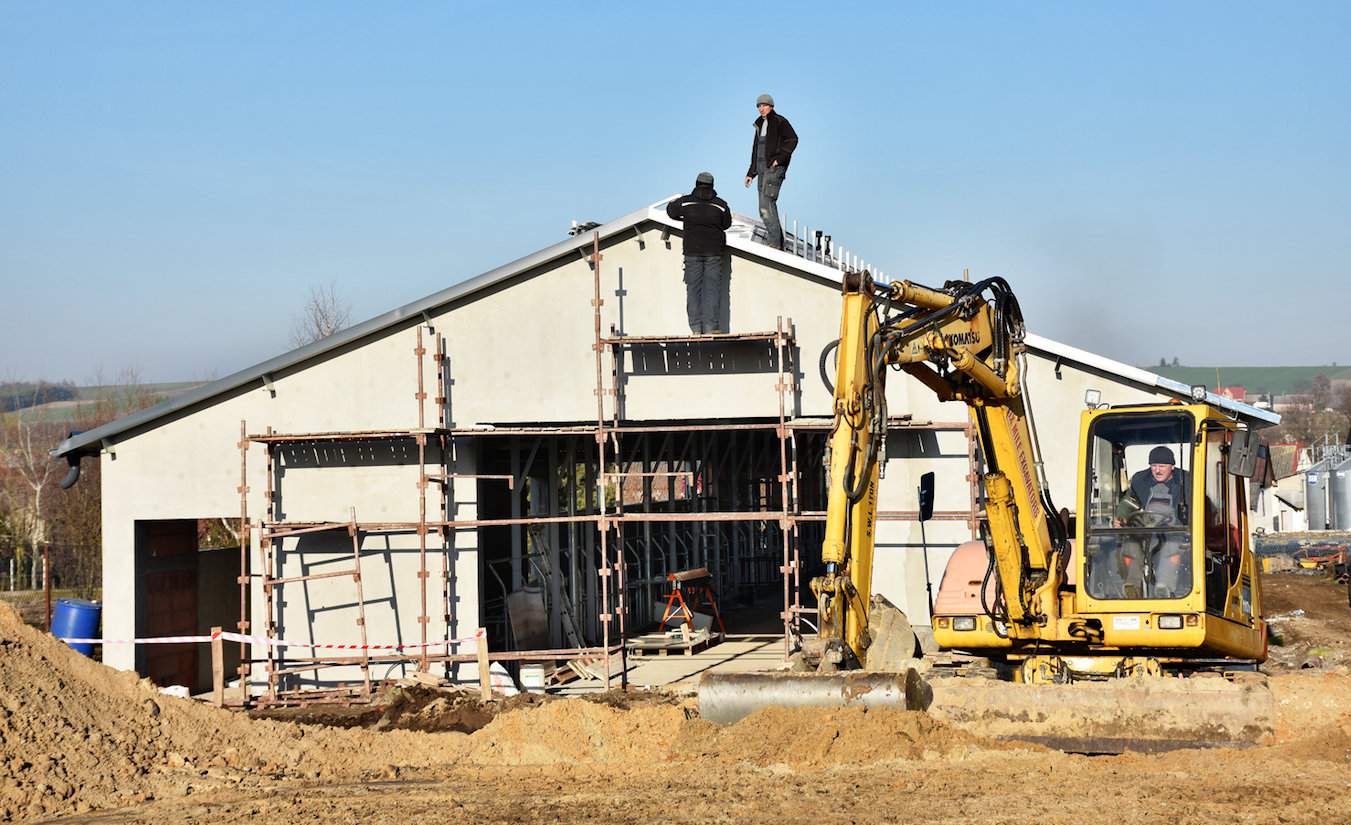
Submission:
M 678 194 L 671 197 L 678 197 Z M 146 409 L 123 416 L 85 432 L 73 433 L 70 437 L 57 444 L 51 450 L 51 455 L 55 458 L 97 455 L 105 442 L 116 442 L 119 436 L 154 425 L 161 419 L 166 419 L 174 413 L 207 404 L 213 398 L 234 393 L 235 390 L 247 388 L 249 385 L 257 383 L 262 388 L 267 381 L 270 381 L 272 375 L 320 358 L 354 342 L 382 335 L 390 328 L 404 324 L 412 319 L 430 316 L 434 311 L 438 311 L 447 304 L 461 301 L 474 293 L 492 289 L 530 270 L 546 266 L 562 258 L 576 257 L 582 248 L 592 243 L 593 234 L 598 234 L 604 242 L 616 235 L 631 232 L 644 223 L 654 223 L 671 230 L 681 230 L 682 227 L 680 221 L 671 220 L 666 216 L 665 207 L 671 197 L 665 197 L 650 207 L 630 212 L 628 215 L 601 224 L 594 230 L 580 232 L 573 238 L 561 240 L 559 243 L 544 247 L 534 254 L 526 255 L 524 258 L 517 258 L 516 261 L 490 269 L 481 275 L 469 278 L 467 281 L 462 281 L 454 286 L 449 286 L 440 292 L 435 292 L 424 298 L 405 304 L 397 309 L 392 309 L 353 327 L 347 327 L 346 329 L 335 332 L 328 338 L 305 344 L 304 347 L 299 347 L 296 350 L 290 350 L 289 352 L 282 352 L 276 358 L 246 367 L 238 373 L 212 381 L 211 383 L 196 386 L 185 393 L 166 398 L 154 406 L 147 406 Z M 775 263 L 781 269 L 794 270 L 801 275 L 817 278 L 830 284 L 842 282 L 842 270 L 835 265 L 812 261 L 793 252 L 785 252 L 782 250 L 770 248 L 762 243 L 757 243 L 754 240 L 754 230 L 758 225 L 758 221 L 736 215 L 734 219 L 734 228 L 727 234 L 727 246 L 743 252 L 744 255 Z M 1182 397 L 1189 394 L 1190 388 L 1179 381 L 1163 378 L 1162 375 L 1156 375 L 1147 370 L 1132 367 L 1101 355 L 1094 355 L 1085 350 L 1078 350 L 1039 335 L 1028 335 L 1027 343 L 1031 348 L 1040 350 L 1051 356 L 1079 362 L 1085 366 L 1119 375 L 1127 381 L 1143 383 L 1148 388 L 1156 388 L 1165 393 L 1179 394 Z M 1223 406 L 1236 415 L 1255 419 L 1256 421 L 1275 424 L 1281 420 L 1279 416 L 1274 413 L 1228 398 L 1221 398 L 1215 393 L 1209 394 L 1209 401 L 1216 406 Z

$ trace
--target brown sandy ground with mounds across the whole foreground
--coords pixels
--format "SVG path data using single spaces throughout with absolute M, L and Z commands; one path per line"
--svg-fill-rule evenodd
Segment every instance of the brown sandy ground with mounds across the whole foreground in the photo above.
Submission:
M 345 728 L 161 695 L 0 605 L 0 821 L 1351 820 L 1351 672 L 1270 685 L 1273 744 L 1150 756 L 1008 744 L 904 710 L 767 709 L 719 728 L 648 695 L 415 690 Z

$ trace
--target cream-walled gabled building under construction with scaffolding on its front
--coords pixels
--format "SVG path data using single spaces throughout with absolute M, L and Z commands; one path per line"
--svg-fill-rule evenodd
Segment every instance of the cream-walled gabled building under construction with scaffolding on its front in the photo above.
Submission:
M 412 670 L 476 678 L 463 640 L 478 628 L 496 660 L 584 662 L 607 683 L 623 678 L 612 654 L 659 624 L 671 577 L 704 568 L 727 631 L 769 617 L 786 652 L 815 628 L 823 373 L 858 262 L 805 227 L 771 250 L 739 219 L 731 332 L 690 336 L 663 204 L 63 442 L 58 455 L 101 462 L 104 637 L 286 640 L 227 651 L 257 702 L 359 698 Z M 1028 344 L 1050 487 L 1073 513 L 1085 392 L 1189 388 Z M 929 585 L 977 535 L 977 456 L 961 404 L 902 374 L 888 398 L 874 581 L 923 625 Z M 925 471 L 939 483 L 921 541 Z M 239 545 L 203 551 L 201 520 Z M 104 659 L 211 683 L 196 645 Z

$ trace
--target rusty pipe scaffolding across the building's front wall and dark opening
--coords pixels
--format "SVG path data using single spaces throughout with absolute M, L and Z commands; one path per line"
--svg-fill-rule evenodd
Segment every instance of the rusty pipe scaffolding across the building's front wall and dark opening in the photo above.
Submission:
M 627 640 L 631 629 L 655 621 L 654 605 L 666 595 L 667 577 L 678 570 L 708 567 L 719 600 L 747 604 L 778 593 L 785 656 L 811 627 L 815 608 L 804 605 L 804 547 L 820 544 L 825 518 L 824 446 L 831 419 L 798 415 L 798 348 L 792 319 L 777 319 L 763 332 L 717 335 L 632 336 L 611 325 L 603 331 L 601 244 L 592 236 L 584 259 L 593 280 L 594 423 L 559 425 L 492 425 L 455 428 L 449 419 L 449 359 L 443 336 L 430 319 L 416 327 L 416 427 L 408 429 L 327 431 L 280 433 L 270 427 L 247 433 L 240 423 L 240 618 L 239 632 L 249 633 L 249 585 L 262 593 L 263 628 L 278 636 L 278 593 L 289 585 L 323 578 L 351 578 L 357 631 L 366 644 L 366 601 L 362 589 L 362 536 L 415 533 L 417 537 L 419 641 L 416 649 L 388 655 L 284 654 L 267 645 L 262 659 L 251 660 L 240 644 L 240 682 L 251 667 L 266 668 L 263 705 L 369 701 L 377 679 L 376 664 L 415 666 L 430 671 L 476 662 L 476 654 L 454 654 L 451 577 L 457 531 L 477 531 L 480 552 L 480 616 L 497 649 L 493 662 L 559 662 L 600 659 L 600 686 L 615 682 L 613 658 L 620 658 L 619 683 L 627 686 Z M 435 421 L 427 415 L 424 334 L 431 335 L 436 381 Z M 765 347 L 773 354 L 777 404 L 755 420 L 648 421 L 638 424 L 624 415 L 626 356 L 646 348 L 708 348 L 728 346 Z M 769 402 L 767 402 L 769 404 Z M 978 477 L 970 424 L 917 423 L 893 419 L 889 429 L 961 429 L 969 444 L 973 506 L 967 512 L 939 512 L 939 520 L 965 520 L 975 535 Z M 288 521 L 277 510 L 278 454 L 296 446 L 397 443 L 416 448 L 417 520 L 361 521 L 349 508 L 346 520 Z M 589 444 L 589 447 L 588 447 Z M 249 448 L 263 450 L 266 467 L 265 514 L 258 535 L 258 573 L 250 573 Z M 474 450 L 476 473 L 451 471 L 451 456 Z M 431 460 L 431 464 L 428 464 Z M 457 479 L 477 483 L 476 518 L 455 518 L 453 485 Z M 427 490 L 436 485 L 435 512 L 428 512 Z M 505 496 L 505 500 L 503 498 Z M 509 514 L 508 514 L 509 508 Z M 527 512 L 528 508 L 528 512 Z M 485 517 L 485 510 L 500 510 Z M 882 512 L 880 520 L 915 520 L 915 512 Z M 285 575 L 288 540 L 311 533 L 346 531 L 351 540 L 351 568 L 303 571 Z M 489 537 L 509 535 L 501 544 Z M 494 558 L 494 552 L 496 558 Z M 444 635 L 428 637 L 428 556 L 440 556 L 440 589 L 436 610 Z M 499 595 L 489 597 L 496 586 Z M 547 613 L 546 645 L 519 648 L 508 597 L 538 589 Z M 311 640 L 315 641 L 315 640 Z M 317 651 L 313 651 L 317 652 Z M 334 667 L 357 667 L 361 681 L 330 690 L 288 687 L 292 676 Z M 245 691 L 247 694 L 247 690 Z

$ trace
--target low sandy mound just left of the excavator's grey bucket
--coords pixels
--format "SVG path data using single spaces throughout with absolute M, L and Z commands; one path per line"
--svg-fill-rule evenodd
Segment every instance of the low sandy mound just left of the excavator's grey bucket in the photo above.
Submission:
M 561 699 L 504 713 L 471 739 L 478 764 L 642 764 L 670 751 L 686 724 L 677 705 L 642 702 L 623 710 L 605 702 Z

